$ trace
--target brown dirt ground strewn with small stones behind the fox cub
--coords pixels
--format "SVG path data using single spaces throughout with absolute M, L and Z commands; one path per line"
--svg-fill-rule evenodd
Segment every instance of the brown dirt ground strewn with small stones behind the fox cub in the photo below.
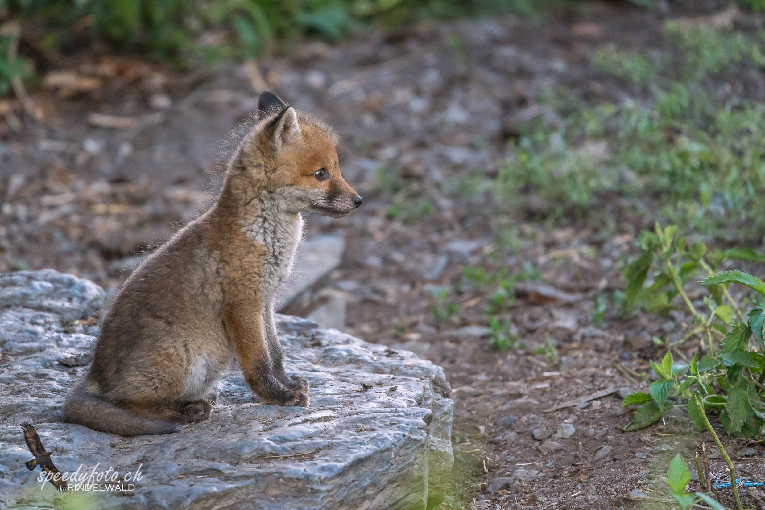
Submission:
M 43 59 L 39 119 L 10 103 L 15 113 L 0 123 L 0 271 L 57 268 L 113 292 L 214 195 L 226 134 L 267 86 L 334 126 L 343 174 L 365 198 L 347 218 L 311 217 L 306 232 L 345 236 L 328 286 L 347 297 L 347 332 L 431 359 L 451 382 L 457 459 L 440 508 L 672 508 L 659 479 L 669 459 L 713 443 L 682 413 L 625 433 L 632 413 L 621 398 L 625 388 L 646 391 L 640 374 L 660 354 L 653 336 L 679 334 L 688 317 L 591 318 L 594 297 L 623 287 L 619 261 L 649 219 L 604 201 L 615 224 L 606 234 L 575 219 L 535 222 L 545 204 L 534 197 L 518 217 L 496 217 L 480 195 L 441 191 L 471 172 L 496 174 L 525 120 L 561 122 L 537 102 L 545 87 L 591 102 L 632 97 L 597 77 L 591 54 L 609 41 L 650 47 L 672 15 L 591 3 L 545 21 L 369 31 L 337 46 L 295 44 L 257 65 L 187 71 L 99 48 Z M 407 203 L 396 203 L 402 190 Z M 497 259 L 496 232 L 507 227 L 516 249 Z M 467 265 L 539 271 L 506 313 L 518 349 L 487 349 L 482 291 L 461 284 Z M 439 323 L 432 291 L 444 284 L 460 289 L 459 311 Z M 555 349 L 535 353 L 549 341 Z M 727 447 L 744 476 L 765 474 L 759 445 Z M 710 462 L 723 471 L 720 458 Z M 742 492 L 745 506 L 763 508 L 765 492 Z M 729 492 L 718 497 L 731 505 Z

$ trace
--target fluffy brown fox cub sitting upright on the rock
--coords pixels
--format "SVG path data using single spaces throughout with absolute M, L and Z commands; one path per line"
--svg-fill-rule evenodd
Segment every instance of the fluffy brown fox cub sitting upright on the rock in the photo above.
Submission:
M 340 217 L 361 205 L 336 143 L 326 125 L 260 95 L 216 202 L 138 266 L 106 313 L 64 421 L 122 436 L 181 430 L 210 416 L 235 355 L 263 403 L 308 407 L 308 381 L 282 365 L 272 297 L 301 213 Z

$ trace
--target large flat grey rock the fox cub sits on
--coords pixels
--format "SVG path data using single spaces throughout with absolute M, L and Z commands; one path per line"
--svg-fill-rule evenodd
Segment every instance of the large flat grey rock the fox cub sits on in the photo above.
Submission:
M 285 365 L 311 382 L 311 408 L 259 404 L 233 367 L 210 419 L 177 434 L 119 437 L 61 423 L 103 299 L 71 274 L 0 274 L 0 506 L 357 510 L 441 499 L 454 459 L 441 368 L 295 317 L 279 317 Z M 41 490 L 39 469 L 24 467 L 24 421 L 62 472 L 111 467 L 122 480 L 140 468 L 142 479 L 134 490 Z

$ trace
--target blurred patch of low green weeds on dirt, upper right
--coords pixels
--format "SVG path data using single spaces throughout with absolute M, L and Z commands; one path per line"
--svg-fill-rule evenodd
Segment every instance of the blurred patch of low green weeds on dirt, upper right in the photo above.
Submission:
M 562 114 L 559 125 L 532 122 L 510 141 L 513 156 L 490 183 L 498 203 L 532 193 L 548 204 L 551 221 L 592 220 L 617 197 L 686 231 L 761 237 L 765 106 L 724 84 L 765 66 L 765 31 L 670 21 L 664 32 L 664 50 L 609 44 L 593 56 L 602 80 L 635 87 L 640 101 L 591 106 L 567 89 L 542 96 Z

